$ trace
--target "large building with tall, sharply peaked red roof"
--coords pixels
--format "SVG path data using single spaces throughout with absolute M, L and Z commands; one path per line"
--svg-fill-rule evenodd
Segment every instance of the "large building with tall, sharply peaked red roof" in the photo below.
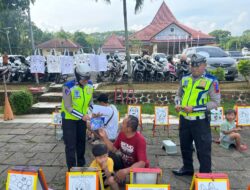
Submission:
M 214 37 L 180 23 L 164 1 L 153 21 L 129 39 L 139 40 L 141 49 L 147 50 L 149 54 L 177 54 L 186 47 L 215 43 Z

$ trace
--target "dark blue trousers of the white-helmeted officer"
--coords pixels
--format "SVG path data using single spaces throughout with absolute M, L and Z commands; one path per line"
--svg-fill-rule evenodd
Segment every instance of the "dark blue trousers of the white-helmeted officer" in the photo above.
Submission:
M 68 169 L 84 166 L 86 122 L 62 119 L 62 128 Z

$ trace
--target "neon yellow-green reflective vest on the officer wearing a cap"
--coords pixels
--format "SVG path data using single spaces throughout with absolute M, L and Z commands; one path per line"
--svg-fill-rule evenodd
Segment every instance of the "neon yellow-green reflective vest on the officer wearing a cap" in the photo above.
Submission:
M 210 97 L 208 96 L 208 90 L 213 84 L 213 79 L 203 75 L 201 78 L 196 80 L 193 84 L 192 76 L 183 77 L 181 80 L 182 84 L 182 100 L 181 107 L 185 106 L 201 106 L 206 105 Z M 201 116 L 204 112 L 192 112 L 185 113 L 180 111 L 180 115 L 183 116 Z

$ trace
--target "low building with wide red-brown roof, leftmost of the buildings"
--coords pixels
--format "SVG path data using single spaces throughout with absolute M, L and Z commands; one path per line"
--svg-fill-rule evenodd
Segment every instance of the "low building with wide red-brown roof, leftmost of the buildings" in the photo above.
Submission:
M 58 55 L 63 54 L 65 49 L 70 55 L 74 55 L 82 46 L 68 39 L 52 39 L 37 45 L 36 48 L 41 49 L 44 56 L 49 55 L 52 49 L 55 49 Z

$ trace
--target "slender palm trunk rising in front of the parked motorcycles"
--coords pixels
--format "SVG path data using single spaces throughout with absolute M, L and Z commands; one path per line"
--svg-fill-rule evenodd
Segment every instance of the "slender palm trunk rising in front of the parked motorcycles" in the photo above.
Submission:
M 125 48 L 126 48 L 126 61 L 128 68 L 128 84 L 132 84 L 132 69 L 130 64 L 129 55 L 129 40 L 128 40 L 128 21 L 127 21 L 127 2 L 123 0 L 123 16 L 124 16 L 124 28 L 125 28 Z

